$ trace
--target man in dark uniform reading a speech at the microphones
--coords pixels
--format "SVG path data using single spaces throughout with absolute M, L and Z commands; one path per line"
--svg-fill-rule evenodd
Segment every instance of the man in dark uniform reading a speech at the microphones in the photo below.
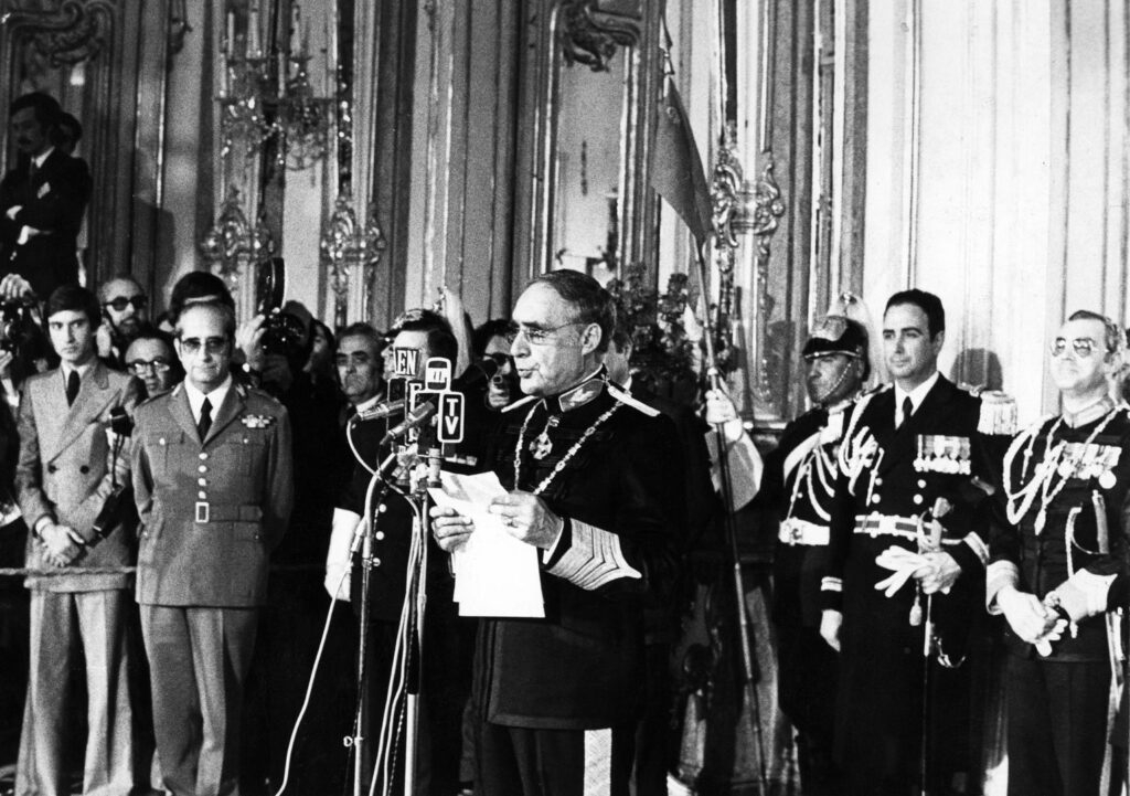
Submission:
M 599 355 L 615 309 L 594 279 L 534 279 L 513 321 L 511 353 L 529 397 L 507 407 L 488 443 L 487 466 L 510 490 L 489 510 L 539 548 L 546 618 L 481 623 L 476 787 L 579 796 L 584 730 L 632 735 L 644 683 L 642 598 L 670 583 L 681 534 L 679 442 L 668 418 L 606 388 Z M 432 513 L 444 550 L 475 533 L 450 509 Z M 614 794 L 626 793 L 629 745 L 612 760 Z

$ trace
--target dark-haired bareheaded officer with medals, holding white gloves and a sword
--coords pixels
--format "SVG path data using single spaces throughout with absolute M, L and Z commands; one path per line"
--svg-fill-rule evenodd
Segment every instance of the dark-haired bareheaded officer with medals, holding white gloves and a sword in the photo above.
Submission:
M 840 447 L 820 632 L 841 650 L 835 745 L 847 793 L 905 796 L 922 764 L 923 709 L 929 779 L 948 787 L 968 768 L 968 667 L 950 667 L 963 661 L 988 557 L 981 508 L 994 467 L 982 432 L 1007 426 L 1011 404 L 938 373 L 944 340 L 937 296 L 892 296 L 883 344 L 895 383 L 855 404 Z M 931 622 L 941 665 L 929 664 L 923 708 Z

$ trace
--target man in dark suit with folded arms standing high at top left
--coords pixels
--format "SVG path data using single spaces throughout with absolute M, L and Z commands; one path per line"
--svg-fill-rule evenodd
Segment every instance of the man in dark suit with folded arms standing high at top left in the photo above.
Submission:
M 46 94 L 11 103 L 9 124 L 19 153 L 0 181 L 0 275 L 45 300 L 60 285 L 78 284 L 77 240 L 90 197 L 85 161 L 52 144 L 61 110 Z M 14 275 L 9 277 L 8 275 Z

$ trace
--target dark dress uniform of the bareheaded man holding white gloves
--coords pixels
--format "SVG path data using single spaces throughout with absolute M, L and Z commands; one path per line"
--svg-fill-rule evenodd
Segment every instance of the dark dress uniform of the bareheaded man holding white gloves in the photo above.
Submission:
M 962 661 L 980 613 L 986 492 L 974 478 L 994 481 L 999 449 L 977 431 L 981 405 L 939 375 L 899 427 L 889 387 L 861 399 L 845 426 L 822 588 L 825 607 L 843 611 L 836 756 L 853 793 L 905 793 L 918 778 L 922 743 L 924 623 L 911 622 L 916 586 L 912 579 L 886 597 L 875 585 L 892 572 L 876 557 L 892 546 L 918 552 L 920 535 L 938 520 L 940 547 L 962 568 L 950 592 L 932 598 L 944 660 Z M 924 613 L 924 597 L 919 607 Z M 966 768 L 966 669 L 931 669 L 932 779 Z

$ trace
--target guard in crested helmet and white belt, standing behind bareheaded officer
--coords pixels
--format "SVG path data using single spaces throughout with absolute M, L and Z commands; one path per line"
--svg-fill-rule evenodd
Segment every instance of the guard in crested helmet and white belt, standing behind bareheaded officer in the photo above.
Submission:
M 844 415 L 870 373 L 867 346 L 858 321 L 828 315 L 817 323 L 802 352 L 816 406 L 785 426 L 757 496 L 781 517 L 773 566 L 777 695 L 797 728 L 801 782 L 812 795 L 840 793 L 832 760 L 838 660 L 820 638 L 820 577 Z

